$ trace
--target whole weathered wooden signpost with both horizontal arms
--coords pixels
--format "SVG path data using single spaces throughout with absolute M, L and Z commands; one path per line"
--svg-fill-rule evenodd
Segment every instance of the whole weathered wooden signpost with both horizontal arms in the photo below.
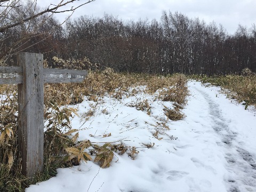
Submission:
M 18 143 L 22 173 L 43 171 L 44 83 L 79 83 L 86 70 L 44 69 L 43 54 L 18 53 L 18 67 L 0 67 L 0 84 L 18 84 Z

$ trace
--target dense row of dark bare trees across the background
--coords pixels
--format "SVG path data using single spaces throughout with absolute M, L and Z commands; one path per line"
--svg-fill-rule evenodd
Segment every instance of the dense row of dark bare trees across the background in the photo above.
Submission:
M 52 59 L 58 57 L 70 62 L 87 58 L 94 68 L 129 73 L 227 75 L 240 74 L 244 68 L 256 71 L 255 24 L 250 28 L 239 25 L 235 34 L 228 34 L 221 25 L 178 12 L 163 11 L 159 20 L 151 21 L 123 21 L 105 14 L 103 18 L 85 15 L 68 20 L 65 26 L 54 18 L 37 25 L 44 17 L 33 21 L 36 27 L 30 22 L 33 31 L 23 24 L 1 34 L 2 62 L 15 65 L 15 53 L 26 51 L 43 53 L 53 68 L 59 67 Z

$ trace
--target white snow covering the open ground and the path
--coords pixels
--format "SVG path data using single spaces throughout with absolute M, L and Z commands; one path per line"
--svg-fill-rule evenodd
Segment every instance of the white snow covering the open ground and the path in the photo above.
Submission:
M 189 90 L 188 105 L 182 110 L 186 118 L 169 121 L 168 131 L 161 123 L 166 121 L 163 108 L 172 107 L 170 102 L 154 101 L 146 94 L 121 101 L 105 97 L 97 106 L 83 101 L 78 106 L 81 116 L 92 108 L 95 111 L 87 122 L 81 117 L 73 119 L 73 128 L 80 127 L 80 140 L 121 140 L 140 153 L 135 160 L 127 154 L 117 155 L 118 161 L 114 157 L 107 169 L 93 162 L 58 169 L 57 177 L 30 186 L 26 192 L 256 191 L 255 113 L 228 100 L 218 87 L 189 82 Z M 145 99 L 151 103 L 151 116 L 127 106 Z M 162 131 L 158 134 L 162 140 L 153 137 L 156 130 Z M 110 137 L 102 138 L 108 133 Z M 150 143 L 155 143 L 153 148 L 143 145 Z

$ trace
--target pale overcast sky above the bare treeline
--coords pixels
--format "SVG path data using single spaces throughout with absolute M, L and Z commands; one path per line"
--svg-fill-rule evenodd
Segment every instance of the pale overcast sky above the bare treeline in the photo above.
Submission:
M 57 0 L 38 0 L 41 6 L 51 2 L 56 3 Z M 235 33 L 238 24 L 247 28 L 251 28 L 252 23 L 256 24 L 256 0 L 95 0 L 76 10 L 73 18 L 81 15 L 102 17 L 108 13 L 118 15 L 122 20 L 160 20 L 163 10 L 178 11 L 189 18 L 198 17 L 206 23 L 221 23 L 230 34 Z M 65 17 L 67 15 L 59 14 L 57 18 L 63 20 Z

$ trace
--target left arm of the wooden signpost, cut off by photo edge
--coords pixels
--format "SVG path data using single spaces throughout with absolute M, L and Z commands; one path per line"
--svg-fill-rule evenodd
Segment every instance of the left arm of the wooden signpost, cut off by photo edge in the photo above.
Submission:
M 0 84 L 20 84 L 22 81 L 22 67 L 0 67 Z

